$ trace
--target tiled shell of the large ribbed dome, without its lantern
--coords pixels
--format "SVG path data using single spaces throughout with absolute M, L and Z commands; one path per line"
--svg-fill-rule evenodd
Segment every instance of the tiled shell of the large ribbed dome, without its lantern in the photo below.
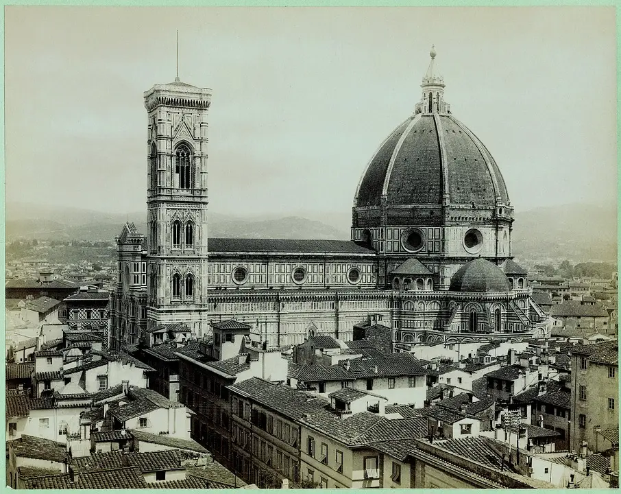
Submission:
M 485 145 L 448 113 L 413 115 L 396 128 L 373 156 L 361 179 L 354 207 L 474 203 L 509 204 L 507 187 Z

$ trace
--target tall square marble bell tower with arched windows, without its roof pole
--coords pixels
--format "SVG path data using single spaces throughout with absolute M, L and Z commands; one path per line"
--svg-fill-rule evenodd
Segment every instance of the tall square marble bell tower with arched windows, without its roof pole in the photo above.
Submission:
M 207 127 L 211 90 L 181 82 L 145 93 L 147 330 L 207 327 Z

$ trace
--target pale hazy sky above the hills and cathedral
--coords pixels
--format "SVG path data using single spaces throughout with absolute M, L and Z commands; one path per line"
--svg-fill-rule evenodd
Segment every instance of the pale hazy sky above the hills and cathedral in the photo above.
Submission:
M 5 9 L 7 201 L 146 209 L 143 92 L 174 80 L 176 30 L 213 91 L 213 211 L 349 214 L 432 43 L 516 209 L 616 201 L 613 8 Z

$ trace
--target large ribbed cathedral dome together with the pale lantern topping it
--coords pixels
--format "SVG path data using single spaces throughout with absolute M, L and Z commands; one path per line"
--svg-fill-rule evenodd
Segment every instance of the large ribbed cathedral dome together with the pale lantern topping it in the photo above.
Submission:
M 496 161 L 444 101 L 434 48 L 430 56 L 414 114 L 382 142 L 356 190 L 354 209 L 365 217 L 373 209 L 386 211 L 384 226 L 438 224 L 443 206 L 489 211 L 510 205 Z

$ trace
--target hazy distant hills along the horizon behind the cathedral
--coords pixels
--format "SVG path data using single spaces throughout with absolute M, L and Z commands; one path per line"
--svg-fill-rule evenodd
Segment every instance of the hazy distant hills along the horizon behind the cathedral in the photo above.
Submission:
M 209 213 L 212 237 L 349 239 L 348 217 L 325 215 L 325 222 L 301 216 L 234 217 Z M 6 204 L 6 238 L 112 241 L 125 220 L 145 233 L 146 211 L 108 214 L 79 208 Z M 330 222 L 327 224 L 326 222 Z M 335 225 L 335 226 L 332 226 Z M 545 207 L 515 213 L 513 253 L 518 259 L 616 261 L 615 207 L 585 204 Z

